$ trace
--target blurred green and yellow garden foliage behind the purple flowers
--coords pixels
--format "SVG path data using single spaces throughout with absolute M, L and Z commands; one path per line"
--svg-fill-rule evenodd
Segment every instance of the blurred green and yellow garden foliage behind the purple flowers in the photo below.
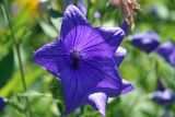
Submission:
M 60 82 L 34 62 L 33 54 L 59 36 L 68 1 L 0 0 L 0 98 L 4 101 L 0 117 L 25 117 L 26 112 L 32 113 L 31 117 L 59 117 L 65 109 Z M 74 5 L 79 2 L 74 0 Z M 109 0 L 81 2 L 93 26 L 121 24 L 122 14 Z M 175 57 L 173 65 L 154 50 L 147 54 L 131 44 L 133 34 L 153 31 L 160 45 L 171 40 L 175 49 L 175 0 L 137 2 L 141 10 L 135 12 L 135 28 L 130 28 L 121 44 L 127 56 L 119 68 L 121 77 L 135 84 L 136 90 L 109 98 L 106 116 L 175 117 Z M 153 100 L 158 84 L 162 83 L 172 92 L 173 100 L 167 104 Z M 168 100 L 170 94 L 162 95 Z M 101 114 L 84 105 L 68 117 L 101 117 Z

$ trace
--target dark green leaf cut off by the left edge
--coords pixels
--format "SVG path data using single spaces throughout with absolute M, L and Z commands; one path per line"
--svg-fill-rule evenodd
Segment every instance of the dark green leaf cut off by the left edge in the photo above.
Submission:
M 13 51 L 11 50 L 7 56 L 0 60 L 0 87 L 7 84 L 11 79 L 14 68 Z

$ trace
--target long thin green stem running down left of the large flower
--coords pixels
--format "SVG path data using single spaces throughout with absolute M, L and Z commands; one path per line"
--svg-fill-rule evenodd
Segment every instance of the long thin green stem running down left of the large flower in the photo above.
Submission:
M 23 70 L 23 65 L 22 65 L 22 59 L 21 59 L 20 45 L 19 45 L 18 40 L 15 39 L 13 27 L 12 27 L 12 23 L 11 23 L 11 20 L 10 20 L 10 14 L 8 12 L 8 7 L 5 5 L 5 2 L 3 0 L 2 0 L 2 4 L 3 4 L 3 9 L 4 9 L 4 15 L 5 15 L 7 20 L 8 20 L 10 33 L 11 33 L 11 36 L 12 36 L 12 39 L 13 39 L 13 44 L 14 44 L 14 47 L 15 47 L 15 50 L 16 50 L 16 55 L 18 55 L 18 60 L 19 60 L 19 67 L 20 67 L 20 73 L 21 73 L 21 80 L 22 80 L 23 89 L 24 89 L 24 92 L 26 92 L 27 87 L 26 87 L 24 70 Z M 26 101 L 26 106 L 27 106 L 27 110 L 26 110 L 25 115 L 26 115 L 26 117 L 31 117 L 32 113 L 31 113 L 31 109 L 30 109 L 30 101 L 28 101 L 27 97 L 25 97 L 25 101 Z

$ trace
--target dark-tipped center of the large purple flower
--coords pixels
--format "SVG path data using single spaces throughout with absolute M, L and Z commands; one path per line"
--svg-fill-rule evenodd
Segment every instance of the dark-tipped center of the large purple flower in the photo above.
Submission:
M 82 58 L 82 52 L 80 50 L 72 50 L 70 52 L 70 56 L 73 69 L 78 69 L 80 65 L 80 59 Z

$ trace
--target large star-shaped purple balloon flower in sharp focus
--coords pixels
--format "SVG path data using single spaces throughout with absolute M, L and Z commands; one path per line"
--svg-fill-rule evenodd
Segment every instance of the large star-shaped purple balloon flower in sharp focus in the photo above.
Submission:
M 133 90 L 121 80 L 115 55 L 127 27 L 126 22 L 121 27 L 92 27 L 78 8 L 67 8 L 60 37 L 34 54 L 35 62 L 61 81 L 63 115 L 88 103 L 105 116 L 108 97 Z

